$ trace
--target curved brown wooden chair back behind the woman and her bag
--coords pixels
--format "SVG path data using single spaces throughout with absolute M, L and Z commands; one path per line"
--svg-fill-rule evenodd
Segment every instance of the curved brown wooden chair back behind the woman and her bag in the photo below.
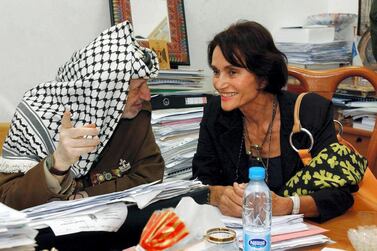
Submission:
M 323 97 L 331 99 L 338 85 L 349 77 L 363 77 L 374 87 L 377 93 L 377 73 L 365 67 L 342 67 L 331 70 L 314 71 L 289 66 L 288 74 L 301 83 L 302 91 L 316 92 Z M 298 88 L 300 90 L 300 88 Z M 377 211 L 377 123 L 368 145 L 368 169 L 359 184 L 359 191 L 354 194 L 354 211 Z M 374 174 L 374 175 L 373 175 Z

